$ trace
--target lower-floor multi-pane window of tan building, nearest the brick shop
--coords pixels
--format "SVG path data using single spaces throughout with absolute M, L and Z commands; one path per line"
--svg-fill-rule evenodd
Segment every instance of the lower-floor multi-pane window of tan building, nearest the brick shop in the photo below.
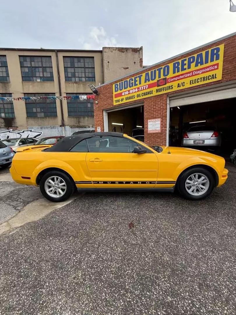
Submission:
M 67 96 L 79 95 L 67 93 Z M 68 116 L 93 116 L 93 100 L 67 100 Z

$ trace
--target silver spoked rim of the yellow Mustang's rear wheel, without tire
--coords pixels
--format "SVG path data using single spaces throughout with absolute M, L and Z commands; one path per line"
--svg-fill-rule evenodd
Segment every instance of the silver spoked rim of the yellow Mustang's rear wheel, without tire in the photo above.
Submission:
M 45 181 L 44 188 L 49 196 L 59 198 L 66 192 L 66 183 L 59 176 L 51 176 Z

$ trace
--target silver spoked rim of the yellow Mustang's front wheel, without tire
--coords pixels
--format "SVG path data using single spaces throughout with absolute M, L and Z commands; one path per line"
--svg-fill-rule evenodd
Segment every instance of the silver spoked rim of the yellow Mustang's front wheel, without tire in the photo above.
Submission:
M 188 176 L 185 181 L 185 188 L 190 195 L 203 195 L 209 188 L 210 182 L 206 175 L 202 173 L 194 173 Z

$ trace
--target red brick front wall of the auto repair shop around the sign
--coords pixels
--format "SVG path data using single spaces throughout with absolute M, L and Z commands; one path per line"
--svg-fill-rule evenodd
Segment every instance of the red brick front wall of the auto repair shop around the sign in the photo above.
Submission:
M 206 83 L 202 85 L 198 85 L 197 87 L 192 87 L 188 89 L 182 89 L 178 91 L 174 91 L 171 93 L 156 95 L 153 97 L 148 97 L 143 100 L 139 100 L 136 102 L 128 102 L 122 105 L 134 105 L 134 104 L 140 104 L 143 103 L 144 105 L 144 135 L 145 135 L 145 142 L 147 142 L 150 145 L 166 145 L 166 128 L 167 128 L 167 96 L 171 94 L 180 93 L 186 90 L 192 90 L 192 89 L 199 89 L 204 86 L 210 86 L 214 84 L 219 84 L 231 80 L 236 80 L 236 35 L 228 37 L 226 39 L 223 39 L 221 41 L 218 41 L 216 43 L 213 43 L 211 45 L 206 45 L 205 47 L 202 47 L 200 49 L 196 49 L 188 54 L 183 54 L 182 56 L 179 56 L 177 58 L 171 59 L 167 62 L 163 62 L 158 65 L 164 66 L 166 64 L 169 64 L 171 62 L 174 62 L 176 60 L 180 60 L 182 58 L 191 56 L 193 54 L 197 54 L 198 52 L 201 52 L 203 50 L 215 47 L 217 45 L 220 45 L 224 43 L 224 60 L 223 60 L 223 72 L 222 72 L 222 80 L 212 82 L 212 83 Z M 150 67 L 148 71 L 157 68 L 157 66 Z M 138 73 L 146 72 L 147 69 L 144 69 Z M 135 74 L 136 75 L 136 74 Z M 133 77 L 133 75 L 127 76 L 126 78 Z M 122 80 L 125 80 L 126 78 L 122 78 Z M 104 109 L 110 109 L 110 108 L 118 108 L 121 106 L 114 106 L 113 105 L 113 84 L 116 82 L 119 82 L 121 80 L 117 80 L 112 83 L 105 84 L 98 88 L 99 95 L 96 96 L 95 101 L 98 101 L 98 104 L 94 104 L 94 124 L 95 124 L 95 130 L 97 126 L 101 127 L 101 131 L 104 131 L 104 121 L 103 121 L 103 110 Z M 148 119 L 154 119 L 154 118 L 161 118 L 161 132 L 160 133 L 148 133 Z

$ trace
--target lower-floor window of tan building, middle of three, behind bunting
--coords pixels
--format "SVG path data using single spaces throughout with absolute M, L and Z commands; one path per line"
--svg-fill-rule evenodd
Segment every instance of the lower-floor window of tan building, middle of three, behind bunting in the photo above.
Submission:
M 28 97 L 34 96 L 55 96 L 55 93 L 37 93 L 25 94 Z M 52 117 L 57 116 L 56 100 L 39 99 L 39 100 L 25 100 L 27 117 Z

